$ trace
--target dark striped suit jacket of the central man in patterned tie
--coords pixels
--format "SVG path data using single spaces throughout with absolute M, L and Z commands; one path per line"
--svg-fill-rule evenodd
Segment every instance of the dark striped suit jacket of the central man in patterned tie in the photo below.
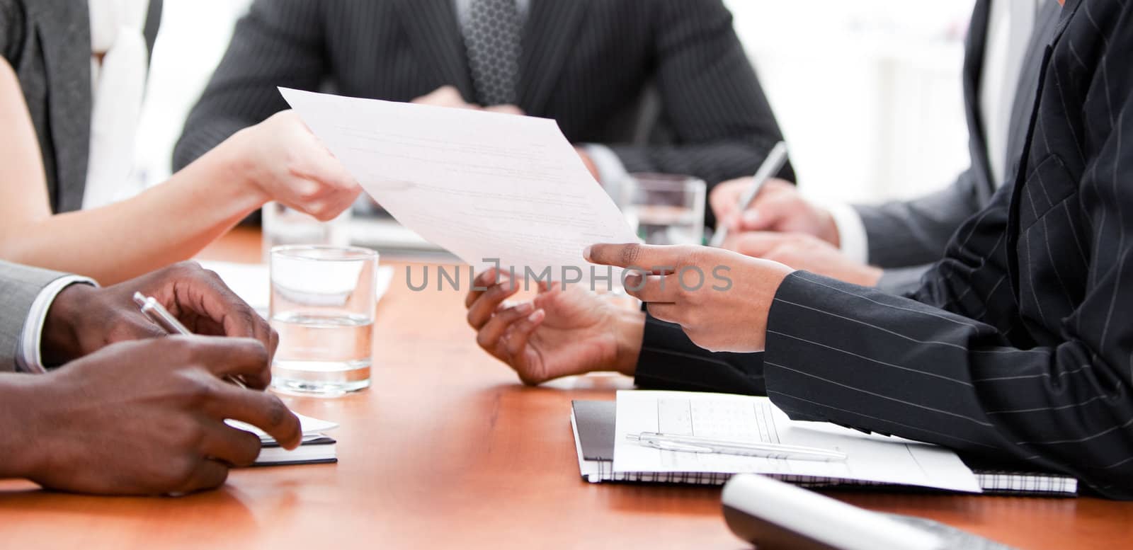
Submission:
M 533 0 L 523 33 L 519 106 L 573 143 L 613 145 L 631 172 L 750 175 L 782 137 L 721 0 Z M 189 114 L 174 167 L 287 109 L 276 86 L 326 83 L 391 101 L 452 85 L 472 101 L 453 0 L 257 0 Z M 621 114 L 650 83 L 672 145 L 619 145 Z

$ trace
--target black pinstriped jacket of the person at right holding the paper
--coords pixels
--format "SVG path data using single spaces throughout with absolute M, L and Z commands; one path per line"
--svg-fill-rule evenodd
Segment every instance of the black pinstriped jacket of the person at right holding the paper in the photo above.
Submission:
M 1131 51 L 1133 0 L 1067 0 L 1024 170 L 914 300 L 799 272 L 763 356 L 697 351 L 650 321 L 639 383 L 766 390 L 798 419 L 1029 461 L 1133 498 Z

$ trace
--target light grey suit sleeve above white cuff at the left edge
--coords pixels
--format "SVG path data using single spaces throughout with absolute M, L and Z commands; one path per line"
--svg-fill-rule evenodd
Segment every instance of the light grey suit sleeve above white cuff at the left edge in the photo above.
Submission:
M 16 352 L 32 303 L 62 273 L 0 261 L 0 371 L 16 370 Z

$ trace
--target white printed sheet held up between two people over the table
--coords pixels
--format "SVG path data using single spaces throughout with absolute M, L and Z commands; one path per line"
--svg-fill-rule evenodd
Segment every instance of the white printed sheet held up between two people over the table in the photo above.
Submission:
M 638 241 L 553 120 L 280 92 L 382 207 L 472 266 L 589 281 L 583 248 Z

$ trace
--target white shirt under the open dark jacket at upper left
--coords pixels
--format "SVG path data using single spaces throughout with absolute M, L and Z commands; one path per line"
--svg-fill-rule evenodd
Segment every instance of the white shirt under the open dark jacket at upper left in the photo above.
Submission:
M 143 189 L 130 174 L 148 71 L 144 28 L 150 0 L 88 2 L 94 104 L 84 209 L 127 199 Z

